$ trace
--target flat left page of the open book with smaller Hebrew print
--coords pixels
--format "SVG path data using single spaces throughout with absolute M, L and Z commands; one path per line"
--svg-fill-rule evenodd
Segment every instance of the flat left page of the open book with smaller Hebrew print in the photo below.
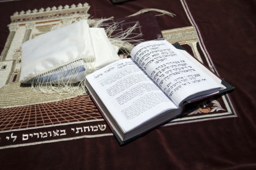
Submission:
M 132 58 L 105 66 L 86 80 L 124 133 L 160 113 L 177 109 Z

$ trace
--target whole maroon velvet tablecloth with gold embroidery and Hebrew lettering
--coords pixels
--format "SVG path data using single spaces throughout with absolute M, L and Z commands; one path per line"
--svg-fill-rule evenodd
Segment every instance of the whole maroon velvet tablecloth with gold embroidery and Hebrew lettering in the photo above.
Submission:
M 156 17 L 163 37 L 236 89 L 121 147 L 86 94 L 47 97 L 18 83 L 22 42 L 80 19 L 123 18 L 142 8 L 176 14 Z M 3 169 L 256 168 L 255 3 L 22 0 L 0 1 L 0 9 Z

